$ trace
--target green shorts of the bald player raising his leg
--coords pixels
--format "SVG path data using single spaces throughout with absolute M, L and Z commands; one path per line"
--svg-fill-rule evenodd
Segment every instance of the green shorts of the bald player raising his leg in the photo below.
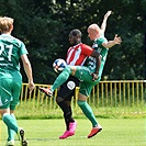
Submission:
M 92 72 L 88 67 L 85 66 L 77 66 L 77 70 L 75 74 L 75 77 L 77 77 L 80 82 L 80 89 L 79 92 L 89 97 L 91 93 L 92 88 L 100 81 L 101 76 L 98 78 L 98 80 L 92 81 Z

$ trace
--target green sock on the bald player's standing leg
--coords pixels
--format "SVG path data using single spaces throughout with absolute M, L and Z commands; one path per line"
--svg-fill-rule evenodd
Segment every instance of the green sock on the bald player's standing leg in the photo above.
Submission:
M 82 112 L 85 113 L 85 115 L 92 123 L 92 126 L 96 127 L 98 125 L 98 122 L 97 122 L 97 119 L 96 119 L 90 105 L 86 101 L 77 101 L 77 102 L 78 102 L 78 105 L 80 106 L 80 109 L 82 110 Z

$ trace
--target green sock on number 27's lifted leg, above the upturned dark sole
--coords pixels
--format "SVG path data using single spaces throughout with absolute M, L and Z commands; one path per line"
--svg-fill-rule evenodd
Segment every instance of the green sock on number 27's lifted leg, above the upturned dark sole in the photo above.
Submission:
M 5 123 L 5 125 L 9 128 L 13 130 L 18 134 L 19 127 L 18 127 L 18 124 L 15 123 L 14 117 L 12 117 L 10 114 L 5 113 L 2 116 L 2 121 Z

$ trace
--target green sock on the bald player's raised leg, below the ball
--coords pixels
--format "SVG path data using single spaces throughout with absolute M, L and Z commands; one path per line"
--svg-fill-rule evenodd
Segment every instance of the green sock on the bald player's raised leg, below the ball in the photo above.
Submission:
M 54 92 L 58 87 L 60 87 L 70 76 L 71 69 L 70 67 L 66 67 L 63 72 L 57 77 L 57 79 L 54 81 L 53 86 L 50 87 L 50 90 Z

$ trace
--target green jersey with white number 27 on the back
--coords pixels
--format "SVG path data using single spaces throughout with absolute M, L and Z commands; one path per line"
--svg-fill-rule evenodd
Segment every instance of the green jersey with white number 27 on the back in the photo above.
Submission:
M 0 76 L 20 78 L 20 57 L 27 54 L 25 45 L 20 40 L 9 35 L 0 35 Z

